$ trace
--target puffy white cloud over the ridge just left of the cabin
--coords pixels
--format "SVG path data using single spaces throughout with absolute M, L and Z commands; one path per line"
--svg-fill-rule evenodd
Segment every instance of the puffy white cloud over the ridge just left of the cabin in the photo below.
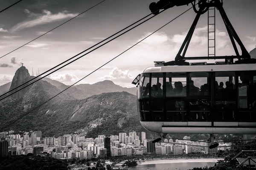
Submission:
M 129 70 L 122 71 L 121 69 L 114 67 L 108 75 L 104 75 L 99 79 L 131 82 L 131 80 L 134 79 L 134 76 L 129 73 Z

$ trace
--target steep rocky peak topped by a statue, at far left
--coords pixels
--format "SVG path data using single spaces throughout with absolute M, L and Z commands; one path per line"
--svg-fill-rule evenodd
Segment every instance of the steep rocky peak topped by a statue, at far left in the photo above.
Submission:
M 21 66 L 15 72 L 15 75 L 12 79 L 12 84 L 11 84 L 10 90 L 14 89 L 15 87 L 19 86 L 20 84 L 25 83 L 26 81 L 29 81 L 29 79 L 30 79 L 29 70 L 26 69 L 25 66 Z M 29 87 L 26 87 L 25 89 L 22 89 L 19 92 L 16 92 L 15 94 L 11 95 L 10 97 L 11 98 L 20 98 L 23 95 L 25 95 L 28 90 L 29 90 Z

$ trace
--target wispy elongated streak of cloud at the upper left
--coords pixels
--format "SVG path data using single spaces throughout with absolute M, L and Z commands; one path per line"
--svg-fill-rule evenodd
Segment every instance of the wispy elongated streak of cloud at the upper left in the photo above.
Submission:
M 43 14 L 35 14 L 25 9 L 24 12 L 29 14 L 30 17 L 33 17 L 33 19 L 28 21 L 23 21 L 21 23 L 17 23 L 14 27 L 12 27 L 11 32 L 16 32 L 20 29 L 31 28 L 38 25 L 44 25 L 47 23 L 64 20 L 66 18 L 72 18 L 78 15 L 78 13 L 69 14 L 67 11 L 62 11 L 62 12 L 58 12 L 57 14 L 52 14 L 48 10 L 43 10 Z

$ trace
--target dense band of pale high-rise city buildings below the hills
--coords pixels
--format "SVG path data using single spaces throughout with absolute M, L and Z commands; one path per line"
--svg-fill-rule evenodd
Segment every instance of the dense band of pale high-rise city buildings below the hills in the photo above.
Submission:
M 110 137 L 107 137 L 106 135 L 98 135 L 97 138 L 85 138 L 84 135 L 66 134 L 58 137 L 42 138 L 41 131 L 23 132 L 22 135 L 19 133 L 13 135 L 13 133 L 15 133 L 13 130 L 0 133 L 0 138 L 5 139 L 1 140 L 2 143 L 6 141 L 6 144 L 8 145 L 8 152 L 2 154 L 11 156 L 24 154 L 25 152 L 25 155 L 28 153 L 35 155 L 47 153 L 47 156 L 54 158 L 87 158 L 87 156 L 93 158 L 95 155 L 100 157 L 105 155 L 109 158 L 111 156 L 143 155 L 143 153 L 169 154 L 173 152 L 174 155 L 193 152 L 216 153 L 218 150 L 221 150 L 220 148 L 224 148 L 225 150 L 231 146 L 231 143 L 224 144 L 223 141 L 218 141 L 222 147 L 219 147 L 218 149 L 208 149 L 209 143 L 207 145 L 203 140 L 188 141 L 188 139 L 190 139 L 189 136 L 184 136 L 183 139 L 175 139 L 175 142 L 173 142 L 172 138 L 169 138 L 158 143 L 152 143 L 152 140 L 147 138 L 140 141 L 140 134 L 137 136 L 136 132 L 125 133 L 125 143 L 122 143 L 120 138 L 118 138 L 118 135 L 110 135 Z M 119 133 L 119 136 L 122 136 L 122 134 L 124 133 Z M 143 134 L 145 134 L 145 132 L 141 132 L 142 138 Z M 128 150 L 123 150 L 122 148 L 128 148 L 129 154 Z M 102 151 L 102 153 L 102 149 L 106 149 L 106 151 Z M 118 151 L 119 149 L 120 151 Z M 92 151 L 93 153 L 87 153 L 86 156 L 84 155 L 85 153 L 81 153 L 81 151 Z M 61 156 L 59 153 L 61 153 Z

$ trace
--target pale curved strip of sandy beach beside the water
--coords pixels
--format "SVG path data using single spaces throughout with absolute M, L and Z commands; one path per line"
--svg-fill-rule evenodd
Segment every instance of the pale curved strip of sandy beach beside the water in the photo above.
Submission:
M 176 159 L 158 159 L 158 160 L 148 160 L 137 162 L 138 165 L 147 164 L 171 164 L 171 163 L 192 163 L 192 162 L 217 162 L 218 160 L 223 160 L 224 158 L 176 158 Z M 137 165 L 137 166 L 138 166 Z

